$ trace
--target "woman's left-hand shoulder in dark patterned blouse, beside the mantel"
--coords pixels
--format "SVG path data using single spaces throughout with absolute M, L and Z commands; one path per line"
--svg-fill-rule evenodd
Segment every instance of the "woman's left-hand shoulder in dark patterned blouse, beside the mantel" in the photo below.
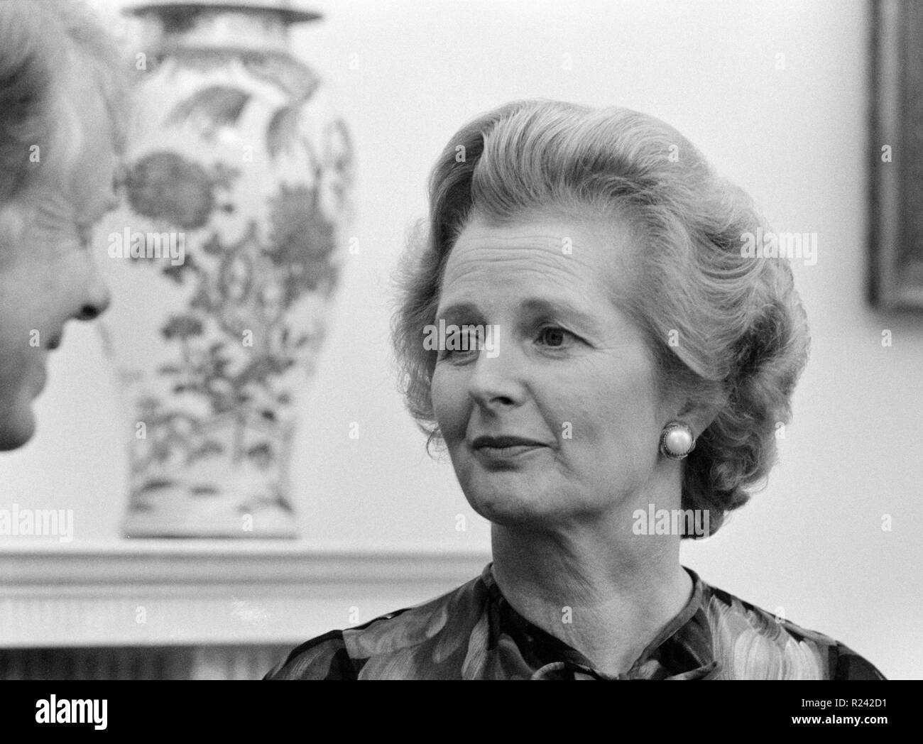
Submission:
M 363 625 L 302 643 L 266 679 L 458 677 L 467 639 L 483 614 L 480 577 Z M 464 642 L 462 642 L 464 641 Z M 457 649 L 448 646 L 457 643 Z M 439 654 L 434 654 L 436 647 Z

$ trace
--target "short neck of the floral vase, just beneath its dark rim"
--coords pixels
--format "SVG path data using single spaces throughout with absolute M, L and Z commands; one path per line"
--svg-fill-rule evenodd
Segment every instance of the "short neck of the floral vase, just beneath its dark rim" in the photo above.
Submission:
M 170 9 L 144 14 L 148 38 L 172 49 L 288 50 L 288 26 L 279 13 L 254 10 Z

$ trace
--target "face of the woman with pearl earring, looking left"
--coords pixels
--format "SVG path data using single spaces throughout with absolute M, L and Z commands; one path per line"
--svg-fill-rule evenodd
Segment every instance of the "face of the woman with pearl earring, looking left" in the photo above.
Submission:
M 497 326 L 497 348 L 439 352 L 432 399 L 485 519 L 592 522 L 653 477 L 669 416 L 641 331 L 613 302 L 631 281 L 632 240 L 611 222 L 474 217 L 452 248 L 437 318 Z

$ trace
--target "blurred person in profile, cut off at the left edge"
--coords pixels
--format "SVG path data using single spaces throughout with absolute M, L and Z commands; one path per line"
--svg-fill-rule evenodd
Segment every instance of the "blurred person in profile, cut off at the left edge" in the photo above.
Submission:
M 90 229 L 114 198 L 119 69 L 81 6 L 0 3 L 0 450 L 32 437 L 66 321 L 109 304 Z

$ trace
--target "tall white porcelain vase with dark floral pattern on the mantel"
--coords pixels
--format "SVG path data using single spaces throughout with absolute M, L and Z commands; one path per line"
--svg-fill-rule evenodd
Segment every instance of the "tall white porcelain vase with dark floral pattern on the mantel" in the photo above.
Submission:
M 98 235 L 131 537 L 294 537 L 296 402 L 324 337 L 352 149 L 287 3 L 159 2 L 121 206 Z M 107 233 L 108 229 L 108 233 Z M 102 246 L 102 238 L 105 246 Z

